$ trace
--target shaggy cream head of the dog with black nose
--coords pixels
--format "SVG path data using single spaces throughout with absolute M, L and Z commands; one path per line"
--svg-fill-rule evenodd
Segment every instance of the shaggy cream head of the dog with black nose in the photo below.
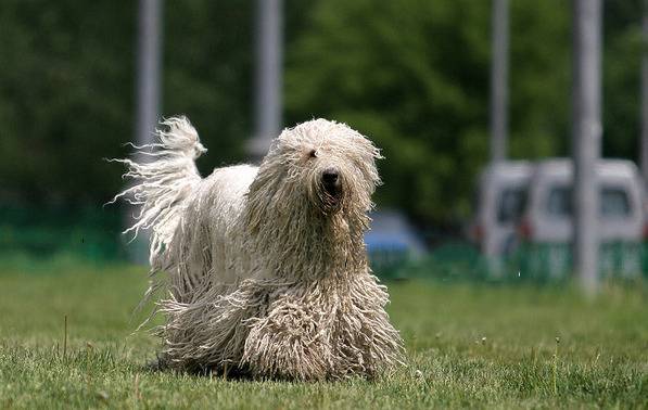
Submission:
M 285 129 L 272 142 L 251 191 L 263 183 L 272 188 L 267 193 L 276 201 L 309 206 L 323 217 L 366 214 L 380 183 L 380 157 L 371 141 L 346 125 L 314 119 Z

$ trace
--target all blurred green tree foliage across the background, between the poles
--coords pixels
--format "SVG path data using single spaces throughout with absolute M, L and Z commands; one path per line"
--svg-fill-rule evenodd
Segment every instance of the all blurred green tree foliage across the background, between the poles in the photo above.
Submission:
M 165 2 L 164 115 L 187 114 L 209 149 L 245 157 L 254 1 Z M 510 1 L 510 155 L 570 154 L 571 7 Z M 0 7 L 0 195 L 102 203 L 134 139 L 137 2 L 4 0 Z M 603 153 L 635 157 L 640 1 L 605 2 Z M 373 139 L 378 202 L 425 223 L 461 220 L 488 159 L 491 2 L 285 2 L 284 124 L 329 117 Z

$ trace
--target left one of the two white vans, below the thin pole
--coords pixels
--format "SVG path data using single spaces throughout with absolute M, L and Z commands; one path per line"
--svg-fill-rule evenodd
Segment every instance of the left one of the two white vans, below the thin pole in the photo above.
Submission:
M 532 174 L 530 162 L 507 161 L 488 165 L 480 175 L 468 235 L 487 257 L 513 249 Z

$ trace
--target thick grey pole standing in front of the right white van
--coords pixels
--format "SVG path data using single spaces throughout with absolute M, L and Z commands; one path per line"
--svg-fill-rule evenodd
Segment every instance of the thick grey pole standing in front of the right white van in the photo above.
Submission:
M 598 287 L 596 166 L 601 146 L 601 2 L 573 3 L 574 262 L 584 292 Z

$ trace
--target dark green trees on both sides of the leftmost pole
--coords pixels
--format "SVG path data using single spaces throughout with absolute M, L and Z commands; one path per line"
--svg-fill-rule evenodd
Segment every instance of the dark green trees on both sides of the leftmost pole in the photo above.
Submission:
M 253 2 L 165 2 L 162 115 L 187 114 L 209 153 L 244 157 Z M 132 141 L 137 2 L 7 0 L 0 7 L 3 203 L 99 205 L 122 187 Z

